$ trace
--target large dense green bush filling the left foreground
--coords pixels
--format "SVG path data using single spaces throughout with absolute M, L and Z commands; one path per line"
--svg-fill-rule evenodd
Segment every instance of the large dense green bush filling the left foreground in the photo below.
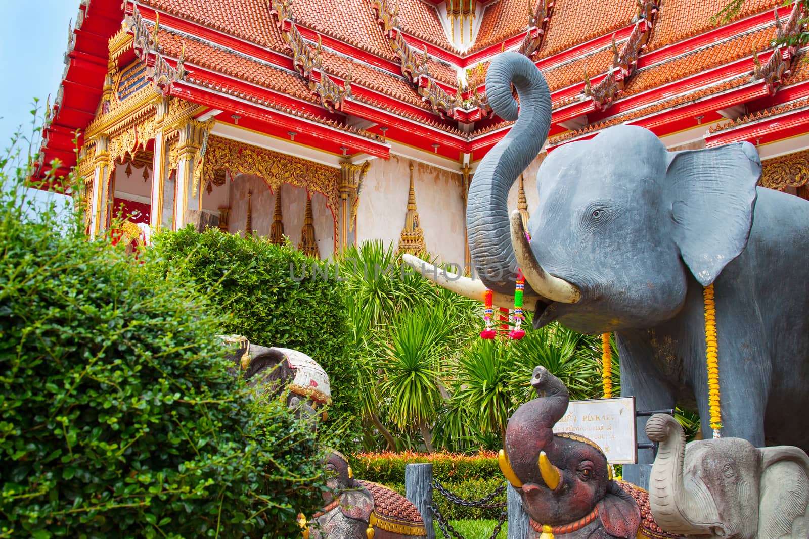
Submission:
M 0 537 L 296 537 L 314 436 L 227 373 L 218 310 L 0 199 Z

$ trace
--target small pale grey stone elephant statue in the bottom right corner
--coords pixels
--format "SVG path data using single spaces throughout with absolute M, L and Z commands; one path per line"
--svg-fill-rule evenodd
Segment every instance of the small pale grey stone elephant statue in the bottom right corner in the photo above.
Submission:
M 646 423 L 660 443 L 649 488 L 651 512 L 670 533 L 736 539 L 809 537 L 809 457 L 791 446 L 756 448 L 720 438 L 685 444 L 668 415 Z

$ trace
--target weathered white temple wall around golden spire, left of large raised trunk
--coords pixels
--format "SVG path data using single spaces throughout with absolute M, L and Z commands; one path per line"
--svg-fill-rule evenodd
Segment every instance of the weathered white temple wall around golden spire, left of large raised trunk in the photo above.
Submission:
M 360 192 L 357 243 L 381 239 L 399 245 L 407 213 L 410 160 L 392 154 L 374 159 Z M 427 251 L 444 262 L 464 263 L 464 200 L 461 175 L 413 161 L 416 208 Z

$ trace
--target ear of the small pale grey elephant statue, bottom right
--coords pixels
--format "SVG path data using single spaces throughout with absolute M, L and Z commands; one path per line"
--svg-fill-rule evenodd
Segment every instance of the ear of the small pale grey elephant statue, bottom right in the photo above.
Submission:
M 809 457 L 790 445 L 762 454 L 757 537 L 809 537 Z

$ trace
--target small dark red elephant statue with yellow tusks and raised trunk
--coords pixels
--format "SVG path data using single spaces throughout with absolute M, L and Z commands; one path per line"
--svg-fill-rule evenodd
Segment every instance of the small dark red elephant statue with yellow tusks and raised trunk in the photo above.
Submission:
M 612 479 L 607 457 L 584 436 L 554 433 L 567 410 L 564 384 L 536 367 L 537 398 L 520 406 L 506 427 L 500 468 L 523 500 L 541 539 L 673 539 L 651 516 L 649 495 Z

